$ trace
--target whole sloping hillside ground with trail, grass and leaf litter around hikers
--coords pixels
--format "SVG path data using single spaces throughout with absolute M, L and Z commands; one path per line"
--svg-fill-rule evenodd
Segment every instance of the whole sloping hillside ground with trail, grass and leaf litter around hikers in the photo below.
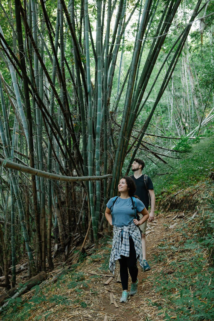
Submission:
M 10 302 L 1 320 L 214 320 L 213 161 L 214 141 L 206 139 L 170 161 L 165 178 L 153 178 L 159 208 L 147 229 L 152 269 L 139 268 L 139 291 L 128 303 L 119 302 L 118 264 L 107 284 L 107 238 L 78 265 L 59 270 L 56 282 L 49 273 L 51 282 Z

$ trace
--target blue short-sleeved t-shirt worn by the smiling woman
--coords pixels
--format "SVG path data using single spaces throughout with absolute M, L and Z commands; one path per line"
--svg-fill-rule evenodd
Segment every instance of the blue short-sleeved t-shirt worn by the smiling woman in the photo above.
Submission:
M 114 198 L 114 197 L 113 197 Z M 133 219 L 135 216 L 135 210 L 132 209 L 132 200 L 129 198 L 120 198 L 118 197 L 114 203 L 112 208 L 113 198 L 110 198 L 106 206 L 112 211 L 112 225 L 115 226 L 127 226 L 133 223 Z M 144 209 L 144 204 L 136 198 L 136 207 L 137 212 L 141 212 Z

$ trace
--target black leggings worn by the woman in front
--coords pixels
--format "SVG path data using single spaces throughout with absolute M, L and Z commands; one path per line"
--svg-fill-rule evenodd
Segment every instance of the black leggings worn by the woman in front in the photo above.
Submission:
M 129 256 L 127 257 L 121 255 L 121 259 L 118 259 L 118 261 L 120 263 L 120 279 L 122 283 L 122 288 L 123 290 L 128 290 L 129 273 L 131 275 L 132 282 L 137 281 L 138 275 L 137 258 L 133 239 L 129 239 Z

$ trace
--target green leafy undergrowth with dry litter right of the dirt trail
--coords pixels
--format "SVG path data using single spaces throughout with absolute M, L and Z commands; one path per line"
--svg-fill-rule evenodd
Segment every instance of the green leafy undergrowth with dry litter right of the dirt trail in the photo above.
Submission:
M 213 262 L 214 202 L 196 218 L 184 221 L 177 229 L 179 241 L 162 240 L 154 257 L 162 268 L 154 288 L 161 298 L 152 302 L 167 320 L 214 320 Z M 176 235 L 176 234 L 175 234 Z

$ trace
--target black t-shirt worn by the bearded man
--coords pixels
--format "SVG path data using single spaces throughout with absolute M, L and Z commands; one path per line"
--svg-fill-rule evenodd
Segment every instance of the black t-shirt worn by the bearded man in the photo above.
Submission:
M 140 200 L 143 202 L 146 209 L 148 210 L 148 208 L 149 208 L 149 195 L 148 195 L 145 183 L 144 183 L 144 175 L 142 175 L 141 177 L 139 177 L 137 179 L 134 177 L 134 175 L 132 175 L 131 178 L 134 180 L 136 187 L 137 187 L 134 194 L 140 198 Z M 151 178 L 149 176 L 148 176 L 147 187 L 148 187 L 148 189 L 154 189 Z

